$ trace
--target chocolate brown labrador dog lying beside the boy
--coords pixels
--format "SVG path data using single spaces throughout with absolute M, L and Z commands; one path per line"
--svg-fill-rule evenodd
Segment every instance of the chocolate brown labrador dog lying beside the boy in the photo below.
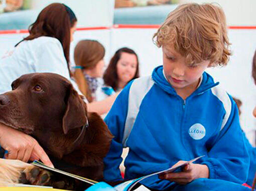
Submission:
M 97 113 L 87 112 L 70 81 L 54 73 L 31 73 L 13 81 L 12 89 L 0 95 L 0 122 L 36 138 L 56 168 L 101 180 L 103 157 L 113 136 Z M 26 177 L 31 174 L 39 175 L 35 169 L 23 173 L 22 181 L 31 179 Z M 41 184 L 59 181 L 48 181 L 47 174 L 44 175 Z M 40 184 L 35 180 L 30 183 L 35 182 Z M 80 189 L 80 185 L 70 184 L 56 185 Z

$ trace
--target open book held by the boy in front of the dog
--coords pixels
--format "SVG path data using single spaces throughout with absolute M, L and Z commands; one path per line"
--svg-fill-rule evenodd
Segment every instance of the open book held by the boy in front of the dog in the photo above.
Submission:
M 196 157 L 196 158 L 193 158 L 192 160 L 189 160 L 189 161 L 184 161 L 182 164 L 179 164 L 179 165 L 174 166 L 174 167 L 170 167 L 170 168 L 162 170 L 162 171 L 158 171 L 158 172 L 155 172 L 155 173 L 152 173 L 152 174 L 149 174 L 149 175 L 145 175 L 145 176 L 133 179 L 133 180 L 125 181 L 125 182 L 120 183 L 120 184 L 116 185 L 115 187 L 113 187 L 113 190 L 117 190 L 117 191 L 130 191 L 130 190 L 132 190 L 132 188 L 135 185 L 137 185 L 137 183 L 139 183 L 140 181 L 142 181 L 143 179 L 145 179 L 147 177 L 150 177 L 150 176 L 153 176 L 153 175 L 157 175 L 157 174 L 160 175 L 160 174 L 165 174 L 165 173 L 169 173 L 169 172 L 181 171 L 182 168 L 185 165 L 187 165 L 189 163 L 192 163 L 192 162 L 196 161 L 197 159 L 199 159 L 199 158 L 201 158 L 203 156 L 204 155 Z M 39 162 L 37 160 L 33 161 L 32 164 L 34 164 L 36 166 L 39 166 L 39 167 L 42 167 L 42 168 L 45 168 L 45 169 L 48 169 L 50 171 L 58 172 L 58 173 L 61 173 L 61 174 L 64 174 L 64 175 L 67 175 L 67 176 L 79 179 L 79 180 L 87 182 L 87 183 L 89 183 L 91 185 L 94 185 L 94 184 L 98 183 L 97 181 L 94 181 L 94 180 L 89 179 L 89 178 L 81 177 L 81 176 L 78 176 L 78 175 L 75 175 L 75 174 L 72 174 L 72 173 L 69 173 L 69 172 L 65 172 L 65 171 L 62 171 L 62 170 L 59 170 L 59 169 L 56 169 L 56 168 L 49 167 L 49 166 L 45 165 L 44 163 Z M 140 191 L 140 190 L 148 190 L 148 189 L 145 186 L 141 185 L 136 190 Z

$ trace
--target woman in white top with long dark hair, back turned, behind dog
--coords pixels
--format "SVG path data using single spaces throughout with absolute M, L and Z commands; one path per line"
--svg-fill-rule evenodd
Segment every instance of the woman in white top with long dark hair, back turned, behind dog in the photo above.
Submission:
M 46 6 L 29 27 L 29 35 L 0 60 L 0 93 L 11 90 L 12 81 L 26 73 L 53 72 L 70 80 L 69 49 L 76 23 L 65 4 Z

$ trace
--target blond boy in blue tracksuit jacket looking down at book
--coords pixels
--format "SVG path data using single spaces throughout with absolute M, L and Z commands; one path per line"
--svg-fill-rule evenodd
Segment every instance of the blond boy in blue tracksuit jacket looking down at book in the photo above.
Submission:
M 125 179 L 205 155 L 181 172 L 143 180 L 152 190 L 185 190 L 198 178 L 203 178 L 199 184 L 209 178 L 223 185 L 245 182 L 249 159 L 237 107 L 205 72 L 228 62 L 223 10 L 208 3 L 180 5 L 154 39 L 162 47 L 163 65 L 128 84 L 105 118 L 115 136 L 104 160 L 105 179 L 122 180 L 118 166 L 127 146 Z

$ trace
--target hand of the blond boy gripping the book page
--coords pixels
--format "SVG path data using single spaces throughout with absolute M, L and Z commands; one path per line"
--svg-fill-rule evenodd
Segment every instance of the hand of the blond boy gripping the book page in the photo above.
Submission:
M 185 161 L 180 160 L 173 167 L 184 163 Z M 160 179 L 167 179 L 170 181 L 175 181 L 179 184 L 187 184 L 197 178 L 208 178 L 209 168 L 205 164 L 194 164 L 189 163 L 185 165 L 181 172 L 170 172 L 167 174 L 159 175 Z

